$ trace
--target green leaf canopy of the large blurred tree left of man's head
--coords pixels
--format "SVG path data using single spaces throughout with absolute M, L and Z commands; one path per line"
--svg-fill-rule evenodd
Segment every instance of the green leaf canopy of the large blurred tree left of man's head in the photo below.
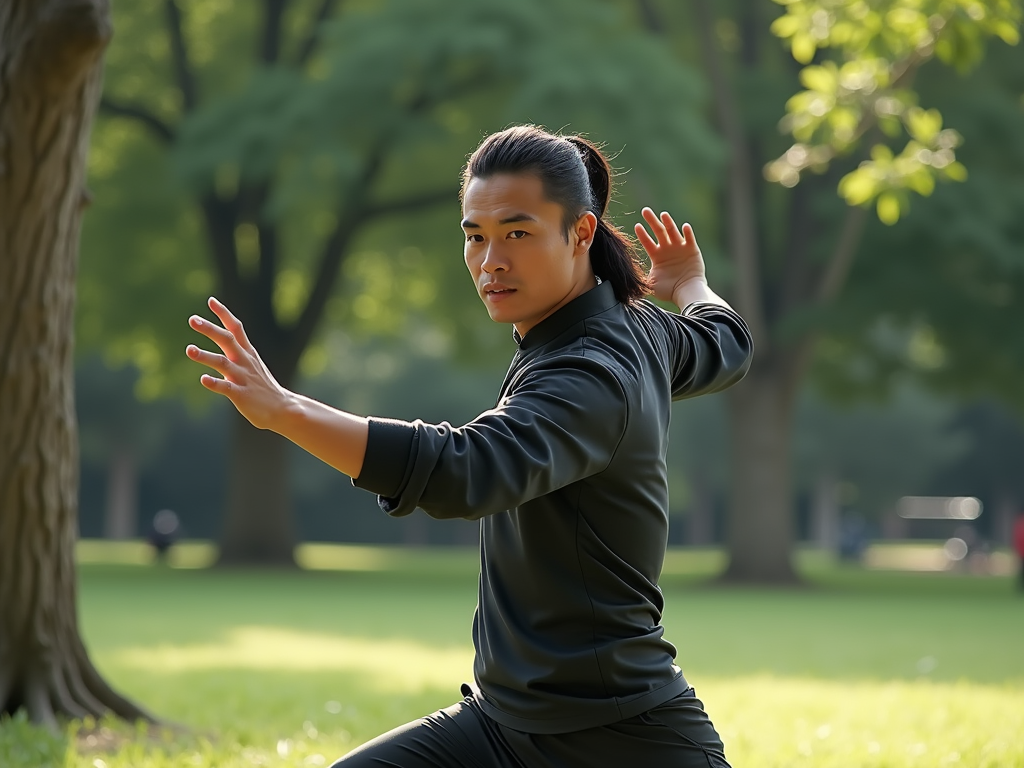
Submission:
M 521 122 L 588 133 L 617 154 L 642 204 L 665 207 L 721 157 L 700 114 L 698 78 L 610 2 L 344 3 L 304 66 L 291 54 L 311 3 L 286 16 L 288 55 L 272 66 L 251 53 L 255 6 L 179 5 L 198 81 L 193 111 L 172 77 L 159 4 L 115 5 L 106 93 L 143 105 L 175 138 L 161 146 L 141 124 L 98 121 L 96 204 L 83 242 L 80 343 L 134 362 L 146 396 L 199 391 L 180 350 L 194 340 L 185 318 L 220 282 L 197 208 L 204 195 L 228 200 L 246 184 L 269 184 L 258 213 L 280 232 L 273 308 L 282 327 L 305 305 L 325 241 L 355 215 L 359 229 L 327 323 L 403 333 L 432 316 L 472 354 L 481 344 L 466 317 L 477 299 L 450 295 L 449 285 L 465 281 L 458 173 L 482 135 Z M 372 220 L 395 201 L 441 194 L 451 205 Z M 622 201 L 634 206 L 629 195 Z M 244 276 L 258 263 L 256 238 L 247 221 L 234 232 Z M 492 346 L 484 336 L 482 346 Z M 323 344 L 307 354 L 303 370 L 315 373 Z

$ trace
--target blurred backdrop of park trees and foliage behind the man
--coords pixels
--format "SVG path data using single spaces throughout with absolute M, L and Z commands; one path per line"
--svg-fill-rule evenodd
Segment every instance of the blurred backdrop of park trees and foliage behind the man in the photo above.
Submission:
M 943 554 L 907 567 L 1007 572 L 1024 47 L 994 11 L 851 42 L 801 5 L 116 2 L 79 276 L 81 536 L 146 538 L 170 509 L 228 562 L 474 544 L 474 524 L 390 519 L 240 423 L 185 358 L 186 319 L 216 294 L 290 388 L 472 419 L 514 343 L 465 273 L 459 173 L 529 122 L 603 142 L 617 223 L 644 205 L 690 221 L 755 328 L 742 389 L 676 407 L 673 545 L 724 547 L 766 580 L 802 546 L 871 564 L 873 543 L 914 540 Z M 781 534 L 752 555 L 742 531 L 765 518 Z

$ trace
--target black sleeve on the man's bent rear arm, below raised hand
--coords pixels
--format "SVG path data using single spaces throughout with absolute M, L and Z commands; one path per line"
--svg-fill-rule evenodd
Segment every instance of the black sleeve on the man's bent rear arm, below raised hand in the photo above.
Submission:
M 669 338 L 674 400 L 718 392 L 746 374 L 754 341 L 735 311 L 700 301 L 679 314 L 659 310 L 659 315 Z

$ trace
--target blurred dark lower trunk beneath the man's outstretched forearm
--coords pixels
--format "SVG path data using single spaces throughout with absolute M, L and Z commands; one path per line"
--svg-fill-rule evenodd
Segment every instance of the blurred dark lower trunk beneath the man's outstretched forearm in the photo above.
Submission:
M 220 565 L 295 565 L 284 437 L 231 413 L 227 504 Z

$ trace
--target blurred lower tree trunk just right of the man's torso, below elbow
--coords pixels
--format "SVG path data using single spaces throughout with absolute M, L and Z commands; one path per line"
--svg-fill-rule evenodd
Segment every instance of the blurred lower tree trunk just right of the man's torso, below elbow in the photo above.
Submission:
M 728 582 L 794 584 L 793 411 L 796 377 L 755 367 L 729 390 L 732 493 Z

